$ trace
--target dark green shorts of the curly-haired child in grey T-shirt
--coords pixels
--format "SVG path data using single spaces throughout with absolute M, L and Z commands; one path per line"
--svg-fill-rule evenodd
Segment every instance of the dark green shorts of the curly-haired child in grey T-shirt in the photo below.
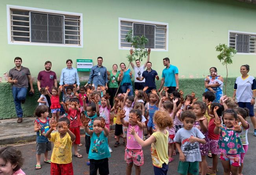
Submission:
M 187 175 L 188 172 L 193 175 L 197 175 L 199 173 L 199 162 L 182 162 L 179 161 L 178 165 L 178 173 L 182 175 Z

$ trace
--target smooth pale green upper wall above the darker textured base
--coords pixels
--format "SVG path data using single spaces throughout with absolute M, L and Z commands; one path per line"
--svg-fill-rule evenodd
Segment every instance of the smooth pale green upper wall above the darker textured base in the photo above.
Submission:
M 83 48 L 7 44 L 6 4 L 42 9 L 83 13 Z M 256 5 L 236 0 L 1 0 L 0 2 L 0 77 L 14 67 L 13 59 L 20 56 L 33 77 L 51 60 L 52 70 L 59 77 L 67 59 L 94 59 L 103 56 L 103 65 L 126 61 L 128 50 L 118 49 L 118 18 L 165 22 L 169 24 L 168 52 L 152 51 L 153 69 L 161 74 L 162 58 L 169 57 L 179 67 L 180 78 L 203 78 L 209 67 L 225 74 L 217 60 L 215 46 L 228 43 L 228 30 L 256 32 Z M 239 76 L 239 67 L 254 65 L 255 55 L 236 55 L 228 66 L 229 76 Z M 74 61 L 75 63 L 76 61 Z M 128 64 L 128 63 L 127 63 Z M 256 69 L 250 74 L 256 75 Z M 88 72 L 79 72 L 86 81 Z

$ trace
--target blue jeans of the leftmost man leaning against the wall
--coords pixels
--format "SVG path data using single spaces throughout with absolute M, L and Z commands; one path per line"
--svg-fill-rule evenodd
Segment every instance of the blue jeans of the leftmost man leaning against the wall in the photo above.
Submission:
M 12 87 L 13 99 L 14 99 L 17 117 L 23 117 L 23 111 L 21 108 L 20 101 L 26 99 L 27 90 L 28 88 L 25 88 L 25 87 L 21 87 L 21 88 L 18 88 L 15 86 Z

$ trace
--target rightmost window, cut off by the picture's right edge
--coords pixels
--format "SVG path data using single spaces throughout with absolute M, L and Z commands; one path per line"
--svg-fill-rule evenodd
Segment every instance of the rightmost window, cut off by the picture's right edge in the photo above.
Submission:
M 229 31 L 229 46 L 238 53 L 256 53 L 256 33 Z

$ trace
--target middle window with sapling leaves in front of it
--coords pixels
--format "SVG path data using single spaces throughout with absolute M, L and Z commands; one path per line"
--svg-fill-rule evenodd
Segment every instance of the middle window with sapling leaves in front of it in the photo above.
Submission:
M 125 35 L 133 30 L 133 36 L 144 35 L 149 42 L 144 46 L 155 50 L 168 50 L 168 23 L 149 22 L 119 18 L 120 49 L 131 48 L 131 43 L 125 41 Z

